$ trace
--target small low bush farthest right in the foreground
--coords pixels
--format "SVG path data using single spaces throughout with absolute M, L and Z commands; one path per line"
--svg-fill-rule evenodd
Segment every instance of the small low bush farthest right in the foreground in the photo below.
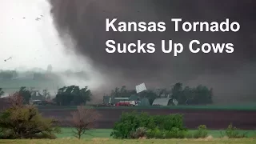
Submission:
M 225 131 L 225 134 L 228 138 L 246 138 L 246 133 L 244 134 L 240 134 L 239 130 L 233 126 L 232 124 L 230 124 Z

